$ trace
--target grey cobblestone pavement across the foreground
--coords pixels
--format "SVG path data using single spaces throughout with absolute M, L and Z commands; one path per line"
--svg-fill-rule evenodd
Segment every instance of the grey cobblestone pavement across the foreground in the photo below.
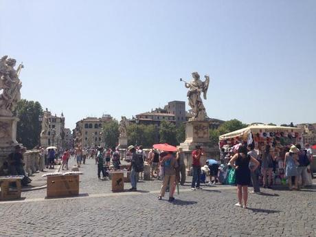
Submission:
M 157 200 L 161 181 L 139 183 L 141 192 L 111 193 L 93 160 L 81 169 L 80 197 L 0 203 L 0 236 L 316 236 L 316 188 L 264 190 L 235 207 L 236 188 L 181 188 L 172 203 Z M 126 185 L 130 188 L 130 184 Z

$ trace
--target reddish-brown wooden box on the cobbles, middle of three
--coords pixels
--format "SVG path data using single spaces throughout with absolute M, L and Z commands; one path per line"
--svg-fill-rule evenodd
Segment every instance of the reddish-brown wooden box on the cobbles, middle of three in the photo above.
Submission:
M 47 176 L 47 197 L 78 195 L 79 175 Z

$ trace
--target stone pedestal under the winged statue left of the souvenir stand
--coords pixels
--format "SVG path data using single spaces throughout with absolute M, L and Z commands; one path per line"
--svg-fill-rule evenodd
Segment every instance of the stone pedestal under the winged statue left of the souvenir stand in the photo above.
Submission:
M 192 166 L 192 151 L 196 146 L 201 146 L 201 166 L 204 166 L 207 159 L 219 159 L 218 146 L 212 146 L 210 141 L 210 122 L 190 121 L 185 123 L 185 141 L 180 144 L 185 153 L 185 166 Z

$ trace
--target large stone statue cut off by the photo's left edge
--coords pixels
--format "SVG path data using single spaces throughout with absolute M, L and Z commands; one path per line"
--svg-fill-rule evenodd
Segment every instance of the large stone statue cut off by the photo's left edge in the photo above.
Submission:
M 3 56 L 0 59 L 0 116 L 12 116 L 17 102 L 21 100 L 22 83 L 19 74 L 23 65 L 15 70 L 16 60 Z

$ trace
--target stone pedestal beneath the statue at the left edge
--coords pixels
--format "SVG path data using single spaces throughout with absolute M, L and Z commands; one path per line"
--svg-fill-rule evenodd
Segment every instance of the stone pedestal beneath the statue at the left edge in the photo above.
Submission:
M 15 151 L 17 117 L 0 117 L 0 168 L 10 153 Z

